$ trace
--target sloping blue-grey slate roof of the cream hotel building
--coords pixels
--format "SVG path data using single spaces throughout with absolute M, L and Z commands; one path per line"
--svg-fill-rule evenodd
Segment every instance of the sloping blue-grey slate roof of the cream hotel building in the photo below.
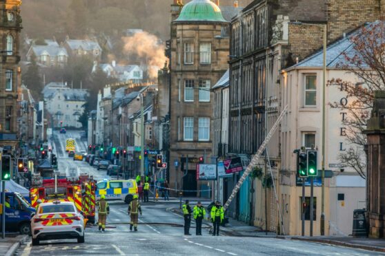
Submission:
M 365 27 L 368 28 L 371 25 L 375 25 L 379 22 L 383 21 L 375 21 L 374 23 L 366 23 Z M 384 23 L 385 24 L 385 23 Z M 347 54 L 348 56 L 354 56 L 356 54 L 356 51 L 354 49 L 354 44 L 351 41 L 351 38 L 353 36 L 357 36 L 361 32 L 361 29 L 355 30 L 351 32 L 351 34 L 348 34 L 343 39 L 339 39 L 335 41 L 334 43 L 331 43 L 326 48 L 326 67 L 329 68 L 337 68 L 341 67 L 342 65 L 349 65 L 350 63 L 346 62 L 344 54 Z M 323 67 L 324 63 L 324 56 L 323 56 L 323 50 L 319 50 L 315 52 L 315 54 L 308 56 L 308 58 L 305 58 L 303 61 L 299 62 L 296 65 L 293 65 L 291 68 L 295 67 Z

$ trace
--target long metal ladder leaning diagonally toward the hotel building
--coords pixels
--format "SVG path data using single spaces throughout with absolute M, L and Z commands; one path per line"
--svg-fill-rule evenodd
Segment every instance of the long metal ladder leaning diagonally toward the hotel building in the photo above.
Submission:
M 284 118 L 284 115 L 286 114 L 287 110 L 288 110 L 288 105 L 286 105 L 286 107 L 282 110 L 277 121 L 275 121 L 275 124 L 273 125 L 273 127 L 271 127 L 270 131 L 268 132 L 268 135 L 266 136 L 264 142 L 262 142 L 261 147 L 259 147 L 257 153 L 251 159 L 250 164 L 248 164 L 246 171 L 244 171 L 244 174 L 241 176 L 238 183 L 235 185 L 235 187 L 233 189 L 233 193 L 231 193 L 230 198 L 228 198 L 226 204 L 224 204 L 224 211 L 226 211 L 226 209 L 228 209 L 228 206 L 230 206 L 231 201 L 233 201 L 233 199 L 235 198 L 235 195 L 237 195 L 242 184 L 244 183 L 244 181 L 246 180 L 246 178 L 250 174 L 250 171 L 253 170 L 253 168 L 257 165 L 261 154 L 264 152 L 266 145 L 268 144 L 270 138 L 273 137 L 273 134 L 278 129 L 279 123 L 282 121 L 282 118 Z

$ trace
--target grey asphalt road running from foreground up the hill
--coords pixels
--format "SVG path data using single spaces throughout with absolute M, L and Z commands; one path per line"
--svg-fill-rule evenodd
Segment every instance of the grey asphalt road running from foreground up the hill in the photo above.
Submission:
M 57 132 L 57 131 L 56 131 Z M 77 140 L 77 150 L 86 150 L 79 131 L 54 134 L 51 145 L 59 160 L 59 168 L 80 167 L 82 172 L 95 178 L 108 178 L 106 171 L 97 171 L 86 162 L 74 162 L 64 151 L 63 142 L 72 137 Z M 139 217 L 139 231 L 129 230 L 127 205 L 110 203 L 106 232 L 97 226 L 86 228 L 86 242 L 73 240 L 43 241 L 32 246 L 29 241 L 17 251 L 18 256 L 28 255 L 383 255 L 366 250 L 329 246 L 290 239 L 233 237 L 221 234 L 213 237 L 204 226 L 202 236 L 183 235 L 183 218 L 169 211 L 177 203 L 150 202 L 142 204 L 143 215 Z M 194 226 L 194 223 L 192 223 Z M 194 228 L 190 233 L 195 234 Z

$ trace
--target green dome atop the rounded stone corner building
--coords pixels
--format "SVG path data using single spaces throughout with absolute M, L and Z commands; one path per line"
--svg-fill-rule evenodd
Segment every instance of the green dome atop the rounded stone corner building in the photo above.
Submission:
M 182 8 L 181 14 L 175 21 L 227 22 L 222 16 L 221 9 L 210 0 L 190 1 Z

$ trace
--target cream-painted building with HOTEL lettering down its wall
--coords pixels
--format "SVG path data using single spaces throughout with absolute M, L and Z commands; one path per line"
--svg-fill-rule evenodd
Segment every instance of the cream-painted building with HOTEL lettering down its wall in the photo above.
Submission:
M 350 35 L 352 36 L 352 35 Z M 344 52 L 352 50 L 349 36 L 327 47 L 326 81 L 341 78 L 353 84 L 359 79 L 339 67 L 344 63 Z M 280 192 L 284 208 L 284 224 L 290 226 L 293 234 L 301 233 L 301 195 L 302 186 L 296 177 L 297 154 L 293 150 L 301 147 L 318 149 L 318 169 L 322 168 L 322 67 L 323 55 L 319 51 L 304 61 L 282 72 L 281 105 L 288 105 L 288 112 L 281 123 L 282 180 Z M 346 129 L 342 121 L 348 118 L 341 109 L 330 107 L 328 103 L 350 104 L 352 98 L 337 85 L 326 87 L 326 129 L 325 129 L 325 169 L 333 171 L 332 178 L 325 179 L 326 235 L 349 235 L 352 233 L 353 210 L 366 206 L 366 182 L 355 170 L 346 167 L 339 160 L 339 154 L 352 147 L 362 152 L 357 145 L 349 145 Z M 364 159 L 363 159 L 364 160 Z M 320 178 L 315 178 L 315 233 L 319 233 L 322 189 Z M 306 186 L 306 202 L 310 188 Z M 308 204 L 307 204 L 308 205 Z M 308 206 L 307 206 L 308 207 Z M 306 216 L 308 216 L 306 209 Z M 295 226 L 293 226 L 295 223 Z M 310 221 L 306 217 L 306 235 Z

